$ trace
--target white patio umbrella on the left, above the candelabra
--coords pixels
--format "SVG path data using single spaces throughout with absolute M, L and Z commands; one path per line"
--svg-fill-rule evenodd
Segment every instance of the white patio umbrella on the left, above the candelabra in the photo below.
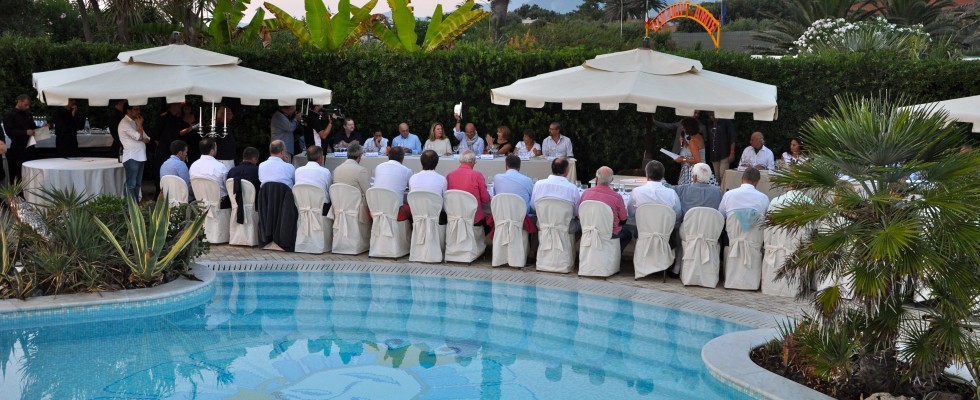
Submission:
M 279 105 L 312 99 L 329 104 L 330 90 L 303 81 L 239 66 L 241 60 L 212 51 L 174 44 L 119 53 L 119 61 L 33 74 L 38 98 L 48 105 L 65 105 L 68 99 L 87 99 L 105 106 L 110 99 L 126 99 L 144 105 L 149 98 L 164 97 L 168 103 L 198 95 L 218 103 L 222 97 L 239 98 L 258 105 L 276 100 Z

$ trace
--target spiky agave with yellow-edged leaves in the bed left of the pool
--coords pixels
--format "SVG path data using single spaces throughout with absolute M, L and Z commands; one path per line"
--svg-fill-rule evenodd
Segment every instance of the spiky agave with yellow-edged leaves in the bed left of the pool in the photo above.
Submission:
M 95 218 L 95 223 L 129 266 L 130 281 L 137 286 L 151 286 L 163 279 L 174 259 L 197 238 L 204 227 L 206 214 L 195 216 L 170 248 L 165 249 L 167 230 L 170 226 L 169 202 L 161 194 L 150 213 L 149 225 L 147 225 L 136 201 L 129 197 L 127 199 L 126 226 L 132 254 L 127 254 L 127 249 L 98 217 Z

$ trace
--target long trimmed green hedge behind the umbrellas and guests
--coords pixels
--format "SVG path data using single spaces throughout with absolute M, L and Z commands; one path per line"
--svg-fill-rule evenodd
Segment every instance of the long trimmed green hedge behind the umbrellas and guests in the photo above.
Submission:
M 119 47 L 105 44 L 52 44 L 45 40 L 0 37 L 0 99 L 13 106 L 19 93 L 32 93 L 30 74 L 115 60 Z M 465 45 L 434 54 L 401 54 L 375 46 L 361 46 L 342 53 L 316 53 L 297 48 L 224 47 L 215 51 L 241 57 L 243 66 L 304 80 L 333 90 L 334 104 L 355 119 L 359 130 L 382 127 L 393 136 L 397 124 L 408 122 L 424 141 L 434 121 L 454 123 L 452 105 L 462 101 L 467 120 L 481 134 L 496 125 L 514 132 L 534 129 L 540 141 L 547 124 L 562 121 L 579 159 L 579 176 L 585 178 L 601 165 L 615 170 L 640 167 L 644 118 L 635 106 L 619 111 L 600 111 L 586 105 L 582 111 L 563 111 L 557 105 L 525 108 L 490 103 L 490 89 L 548 71 L 580 65 L 595 51 L 569 48 L 559 51 L 519 53 L 507 48 Z M 779 154 L 800 126 L 821 113 L 835 95 L 844 93 L 908 95 L 921 102 L 977 94 L 980 62 L 906 61 L 847 54 L 833 58 L 753 59 L 730 52 L 682 52 L 696 58 L 705 69 L 776 85 L 779 118 L 775 122 L 736 119 L 740 149 L 753 131 L 766 134 L 767 144 Z M 152 79 L 153 77 L 147 77 Z M 159 100 L 158 102 L 162 102 Z M 239 146 L 260 149 L 268 143 L 268 117 L 272 103 L 254 107 L 245 116 Z M 35 107 L 40 111 L 43 107 Z M 84 111 L 84 110 L 83 110 Z M 104 114 L 93 111 L 93 124 Z M 152 117 L 152 112 L 144 115 Z M 673 110 L 659 111 L 658 119 L 673 121 Z M 150 121 L 152 123 L 152 121 Z M 447 126 L 451 129 L 451 126 Z M 657 131 L 653 148 L 667 147 L 670 134 Z M 673 163 L 670 163 L 673 164 Z M 670 176 L 670 175 L 668 175 Z

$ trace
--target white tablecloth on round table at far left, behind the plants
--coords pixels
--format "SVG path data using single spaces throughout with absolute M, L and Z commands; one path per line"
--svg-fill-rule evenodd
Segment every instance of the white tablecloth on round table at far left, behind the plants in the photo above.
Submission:
M 23 164 L 26 191 L 24 198 L 32 203 L 40 200 L 41 188 L 75 188 L 85 195 L 114 194 L 122 196 L 126 174 L 115 158 L 48 158 Z

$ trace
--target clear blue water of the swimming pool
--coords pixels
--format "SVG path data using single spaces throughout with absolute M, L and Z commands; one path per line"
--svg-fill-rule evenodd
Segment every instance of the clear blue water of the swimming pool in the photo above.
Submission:
M 122 314 L 0 326 L 0 399 L 745 398 L 700 354 L 747 327 L 558 289 L 228 272 L 206 304 Z

